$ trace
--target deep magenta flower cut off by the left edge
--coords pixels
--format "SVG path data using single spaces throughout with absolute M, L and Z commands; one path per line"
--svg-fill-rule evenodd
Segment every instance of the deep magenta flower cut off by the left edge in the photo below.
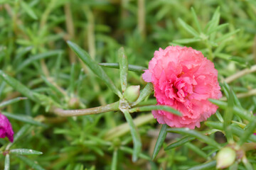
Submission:
M 11 128 L 11 123 L 5 115 L 0 113 L 0 137 L 8 137 L 11 142 L 14 142 L 14 130 Z

